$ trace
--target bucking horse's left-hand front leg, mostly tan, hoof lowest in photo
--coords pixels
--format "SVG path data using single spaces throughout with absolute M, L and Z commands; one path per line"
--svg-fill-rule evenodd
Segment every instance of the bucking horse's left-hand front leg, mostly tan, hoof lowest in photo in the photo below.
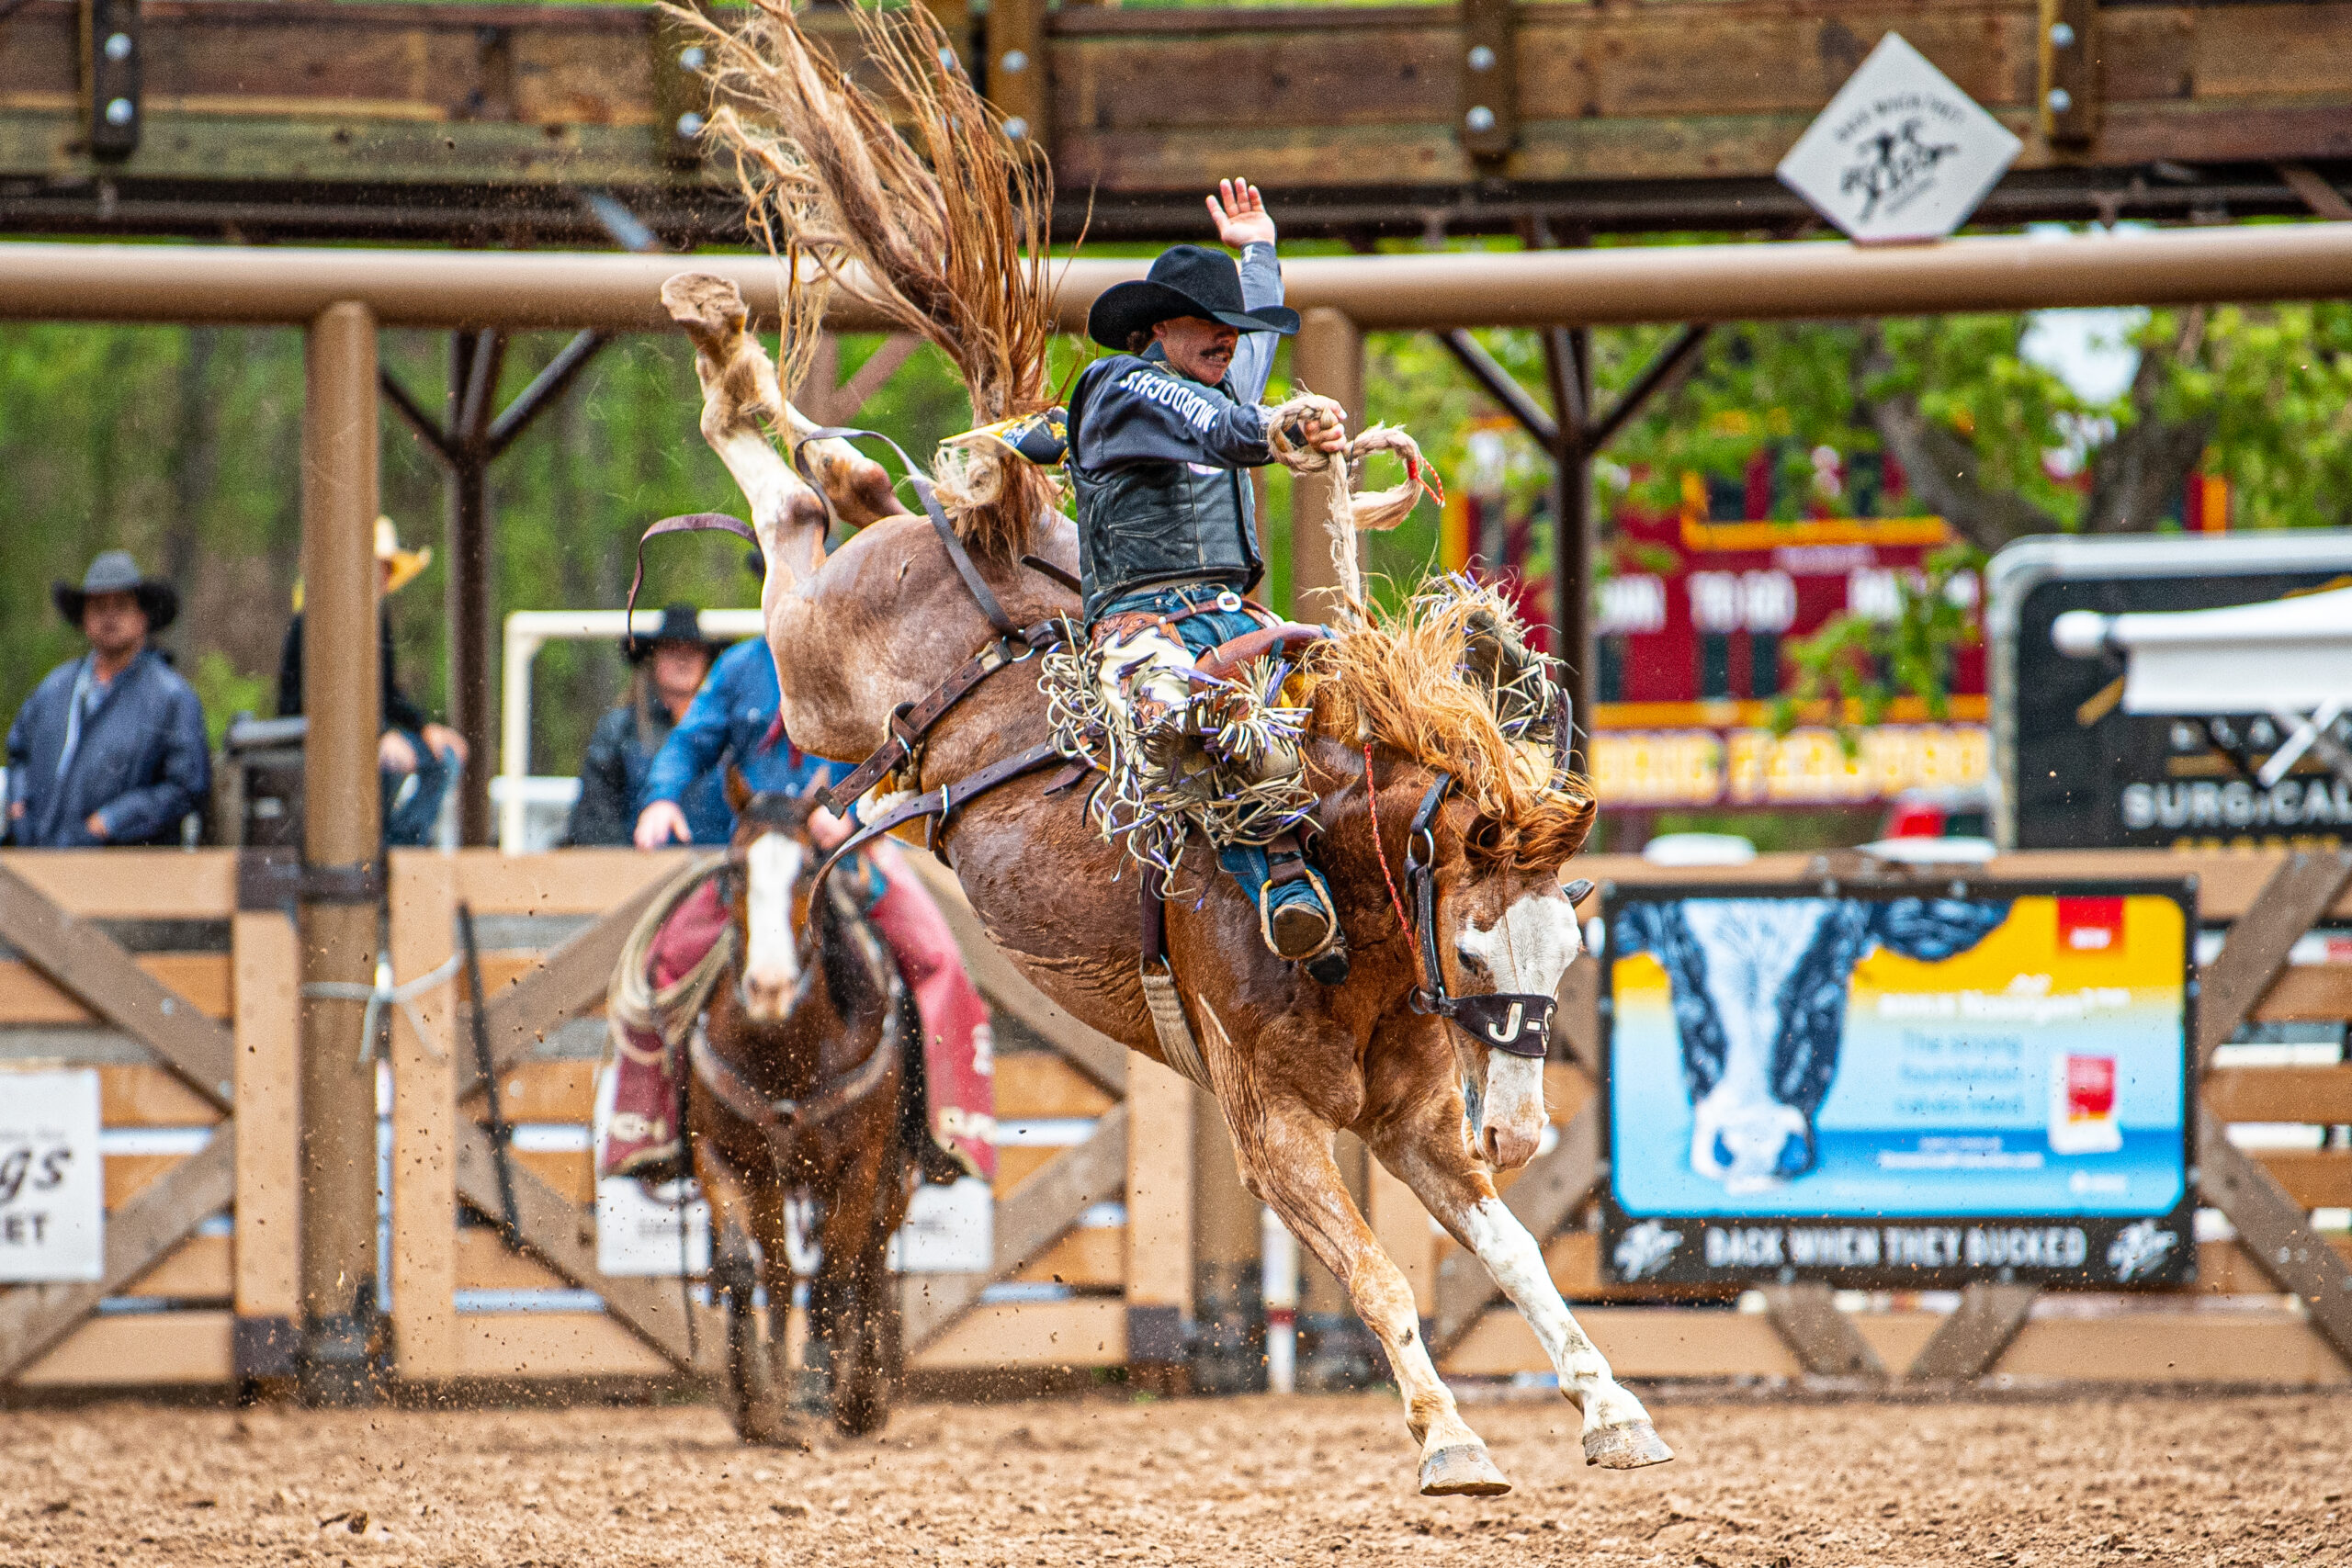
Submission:
M 1348 1288 L 1357 1316 L 1381 1340 L 1404 1394 L 1404 1425 L 1421 1443 L 1423 1497 L 1491 1497 L 1510 1481 L 1461 1418 L 1430 1361 L 1404 1272 L 1381 1251 L 1331 1161 L 1331 1126 L 1303 1105 L 1265 1105 L 1235 1119 L 1235 1152 L 1249 1190 L 1265 1199 Z

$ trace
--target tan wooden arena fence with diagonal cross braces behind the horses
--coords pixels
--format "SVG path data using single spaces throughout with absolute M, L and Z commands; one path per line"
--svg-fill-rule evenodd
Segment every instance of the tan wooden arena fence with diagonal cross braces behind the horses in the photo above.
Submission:
M 997 1070 L 995 1255 L 978 1274 L 908 1274 L 910 1366 L 1117 1368 L 1183 1361 L 1195 1314 L 1200 1117 L 1214 1103 L 1129 1058 L 1030 987 L 988 943 L 953 877 L 934 886 L 1004 1041 Z M 489 851 L 390 858 L 397 983 L 456 950 L 466 903 L 482 933 L 485 1020 L 513 1150 L 520 1251 L 499 1208 L 482 1077 L 447 980 L 395 1013 L 390 1063 L 390 1373 L 405 1385 L 541 1378 L 675 1378 L 715 1371 L 722 1342 L 677 1279 L 595 1267 L 588 1124 L 604 978 L 644 898 L 677 856 Z M 1825 867 L 1764 858 L 1726 882 Z M 1842 877 L 1860 872 L 1837 860 Z M 2352 1063 L 2220 1065 L 2239 1023 L 2352 1018 L 2352 964 L 2291 961 L 2314 926 L 2352 924 L 2352 858 L 2020 856 L 1992 877 L 2199 877 L 2199 910 L 2230 929 L 2204 969 L 2201 1197 L 2234 1239 L 2199 1246 L 2176 1295 L 2100 1298 L 1978 1286 L 1957 1312 L 1905 1295 L 1856 1312 L 1828 1291 L 1776 1291 L 1731 1312 L 1729 1291 L 1604 1286 L 1583 1227 L 1597 1180 L 1599 973 L 1562 987 L 1564 1060 L 1545 1070 L 1550 1152 L 1505 1178 L 1505 1201 L 1545 1239 L 1562 1291 L 1625 1375 L 2117 1378 L 2345 1382 L 2352 1237 L 2314 1208 L 2352 1208 L 2352 1147 L 2237 1147 L 2230 1124 L 2352 1124 Z M 1592 858 L 1581 875 L 1663 872 Z M 1696 875 L 1700 879 L 1715 875 Z M 1693 872 L 1672 872 L 1689 882 Z M 0 1380 L 38 1387 L 230 1382 L 289 1371 L 296 1295 L 296 936 L 233 851 L 0 853 L 0 1067 L 96 1065 L 108 1138 L 106 1276 L 0 1291 Z M 421 1027 L 419 1027 L 421 1025 Z M 2314 1140 L 2305 1140 L 2314 1143 Z M 1230 1173 L 1223 1175 L 1230 1182 Z M 1437 1237 L 1411 1192 L 1371 1166 L 1367 1211 L 1414 1284 L 1454 1375 L 1548 1363 L 1475 1258 Z M 2296 1305 L 2284 1305 L 2286 1298 Z M 2213 1312 L 2230 1298 L 2230 1312 Z M 2199 1307 L 2199 1302 L 2206 1302 Z M 139 1309 L 125 1309 L 139 1307 Z M 162 1309 L 158 1309 L 162 1307 Z

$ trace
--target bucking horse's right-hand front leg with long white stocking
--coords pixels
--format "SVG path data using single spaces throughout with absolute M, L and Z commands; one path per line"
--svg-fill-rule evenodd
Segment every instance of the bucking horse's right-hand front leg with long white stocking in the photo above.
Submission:
M 1486 1180 L 1463 1140 L 1461 1100 L 1425 1095 L 1411 1114 L 1369 1133 L 1371 1152 L 1414 1190 L 1446 1232 L 1477 1253 L 1503 1295 L 1536 1331 L 1559 1371 L 1559 1392 L 1585 1415 L 1585 1462 L 1609 1469 L 1663 1465 L 1675 1453 L 1658 1439 L 1642 1401 L 1628 1394 L 1609 1359 L 1559 1298 L 1543 1248 Z

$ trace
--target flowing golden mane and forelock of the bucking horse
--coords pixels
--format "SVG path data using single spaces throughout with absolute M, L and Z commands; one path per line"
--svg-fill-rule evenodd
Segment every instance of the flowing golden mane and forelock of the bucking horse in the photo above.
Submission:
M 1479 609 L 1517 630 L 1503 595 L 1463 578 L 1352 616 L 1308 651 L 1312 729 L 1451 773 L 1477 809 L 1475 863 L 1555 870 L 1592 832 L 1592 785 L 1576 773 L 1555 780 L 1550 748 L 1503 733 L 1494 696 L 1463 677 L 1465 623 Z

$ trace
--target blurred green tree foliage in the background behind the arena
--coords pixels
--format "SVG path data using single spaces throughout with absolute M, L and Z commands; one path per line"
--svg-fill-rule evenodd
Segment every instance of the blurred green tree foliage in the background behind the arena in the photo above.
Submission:
M 1943 512 L 1985 552 L 2030 531 L 2154 527 L 2150 496 L 2173 494 L 2199 465 L 2232 482 L 2237 527 L 2352 522 L 2352 306 L 2150 313 L 2138 331 L 2140 376 L 2105 407 L 2086 407 L 2027 362 L 2023 331 L 2025 317 L 2006 315 L 1724 327 L 1682 386 L 1602 454 L 1604 529 L 1621 505 L 1675 508 L 1684 470 L 1733 477 L 1766 444 L 1893 451 L 1912 480 L 1907 510 Z M 1670 336 L 1663 327 L 1595 331 L 1599 402 L 1621 395 Z M 1534 331 L 1482 341 L 1541 397 Z M 562 343 L 562 334 L 517 336 L 501 402 Z M 844 341 L 840 374 L 875 346 Z M 1058 346 L 1056 378 L 1065 383 L 1087 353 Z M 442 404 L 447 357 L 440 334 L 383 336 L 383 362 L 430 409 Z M 1289 383 L 1284 353 L 1272 395 Z M 179 585 L 186 609 L 165 642 L 205 693 L 214 729 L 238 708 L 273 710 L 278 644 L 301 571 L 301 393 L 296 331 L 0 324 L 0 559 L 9 564 L 0 574 L 0 712 L 12 715 L 42 672 L 80 651 L 49 609 L 49 583 L 80 578 L 89 557 L 113 545 Z M 1369 339 L 1367 402 L 1371 418 L 1402 423 L 1423 442 L 1449 487 L 1463 480 L 1472 428 L 1496 414 L 1425 334 Z M 696 409 L 682 339 L 630 336 L 604 348 L 492 475 L 496 616 L 616 607 L 647 522 L 741 510 L 696 433 Z M 969 411 L 941 357 L 922 350 L 861 418 L 922 456 L 964 428 Z M 437 463 L 390 411 L 381 435 L 383 510 L 407 541 L 437 545 Z M 2086 463 L 2089 482 L 2051 477 L 2051 451 Z M 1534 442 L 1505 440 L 1503 484 L 1515 505 L 1538 503 L 1548 475 Z M 1282 602 L 1282 473 L 1268 477 L 1268 592 Z M 1371 541 L 1367 567 L 1411 581 L 1435 545 L 1437 512 L 1425 505 Z M 675 538 L 647 555 L 647 604 L 757 602 L 734 543 Z M 1541 534 L 1529 567 L 1550 567 Z M 435 559 L 390 604 L 402 679 L 435 710 L 447 670 L 445 588 L 447 562 Z M 1931 670 L 1936 658 L 1905 639 L 1933 642 L 1940 618 L 1924 602 L 1917 625 L 1832 628 L 1830 642 L 1849 661 L 1867 651 L 1877 670 L 1907 679 L 1900 672 Z M 1842 686 L 1835 658 L 1820 668 L 1823 682 Z M 541 654 L 534 769 L 574 766 L 623 675 L 612 649 Z

